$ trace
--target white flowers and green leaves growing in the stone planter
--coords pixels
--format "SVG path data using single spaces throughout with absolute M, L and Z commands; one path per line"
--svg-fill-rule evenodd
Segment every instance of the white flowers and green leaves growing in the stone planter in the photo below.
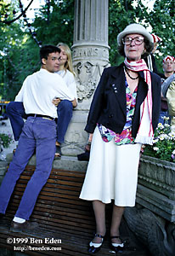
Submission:
M 165 119 L 167 119 L 165 117 Z M 171 126 L 161 123 L 155 130 L 154 143 L 152 146 L 146 145 L 144 154 L 167 161 L 175 161 L 175 131 L 171 131 Z

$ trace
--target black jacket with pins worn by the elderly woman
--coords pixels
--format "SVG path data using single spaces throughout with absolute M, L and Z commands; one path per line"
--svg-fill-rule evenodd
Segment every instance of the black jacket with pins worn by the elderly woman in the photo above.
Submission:
M 97 123 L 104 125 L 116 133 L 121 133 L 127 121 L 127 98 L 124 64 L 119 67 L 104 69 L 99 85 L 95 90 L 93 102 L 88 114 L 85 131 L 93 133 Z M 161 79 L 155 73 L 151 74 L 152 82 L 152 125 L 155 131 L 161 106 Z M 139 72 L 138 93 L 133 116 L 132 136 L 136 137 L 140 120 L 140 105 L 147 96 L 148 84 L 144 81 L 144 72 Z

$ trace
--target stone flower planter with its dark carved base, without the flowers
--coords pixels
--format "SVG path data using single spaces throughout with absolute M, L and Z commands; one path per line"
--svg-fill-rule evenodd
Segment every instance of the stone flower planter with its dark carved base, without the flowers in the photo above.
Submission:
M 142 156 L 136 207 L 125 218 L 151 255 L 175 255 L 175 163 Z

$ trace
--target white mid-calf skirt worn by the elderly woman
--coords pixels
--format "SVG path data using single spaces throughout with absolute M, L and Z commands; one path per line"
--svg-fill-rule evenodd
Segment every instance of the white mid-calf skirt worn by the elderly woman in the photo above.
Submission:
M 104 143 L 96 127 L 80 198 L 134 207 L 140 148 L 139 143 L 117 146 L 113 139 Z

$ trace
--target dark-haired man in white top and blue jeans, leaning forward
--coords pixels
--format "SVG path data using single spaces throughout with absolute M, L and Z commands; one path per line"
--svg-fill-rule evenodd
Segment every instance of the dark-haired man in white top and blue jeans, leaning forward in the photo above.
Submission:
M 67 99 L 72 104 L 76 101 L 65 86 L 64 80 L 55 73 L 59 68 L 59 53 L 59 48 L 54 45 L 43 46 L 40 49 L 41 69 L 25 79 L 16 96 L 17 100 L 24 104 L 27 119 L 20 135 L 18 148 L 0 188 L 0 213 L 5 214 L 15 183 L 25 170 L 34 151 L 36 151 L 37 164 L 11 223 L 10 229 L 14 232 L 36 227 L 28 220 L 35 207 L 37 196 L 52 170 L 56 148 L 57 108 L 52 101 L 54 97 Z

